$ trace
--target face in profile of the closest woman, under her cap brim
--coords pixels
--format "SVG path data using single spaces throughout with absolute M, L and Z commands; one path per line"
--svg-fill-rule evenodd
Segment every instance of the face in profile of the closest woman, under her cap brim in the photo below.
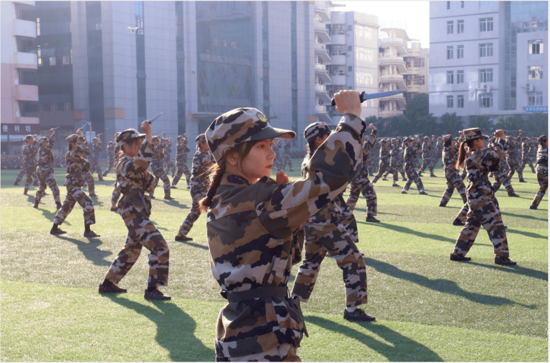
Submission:
M 273 139 L 258 141 L 240 161 L 244 177 L 253 184 L 262 177 L 271 177 L 275 160 L 275 152 L 271 149 L 272 143 Z

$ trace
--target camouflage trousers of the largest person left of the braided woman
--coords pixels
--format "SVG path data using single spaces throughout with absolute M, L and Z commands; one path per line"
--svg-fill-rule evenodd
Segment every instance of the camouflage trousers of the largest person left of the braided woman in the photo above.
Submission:
M 150 251 L 147 286 L 167 286 L 170 251 L 162 234 L 158 232 L 157 227 L 144 211 L 133 206 L 123 208 L 122 200 L 118 206 L 118 212 L 128 228 L 128 236 L 124 248 L 118 252 L 117 258 L 111 263 L 105 278 L 118 284 L 134 266 L 141 254 L 141 249 L 145 247 Z

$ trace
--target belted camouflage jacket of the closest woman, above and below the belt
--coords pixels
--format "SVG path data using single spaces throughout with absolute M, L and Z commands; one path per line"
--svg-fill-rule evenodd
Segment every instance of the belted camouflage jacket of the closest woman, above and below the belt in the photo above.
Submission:
M 208 246 L 214 278 L 225 292 L 287 287 L 301 261 L 301 226 L 353 180 L 361 165 L 365 123 L 348 115 L 313 153 L 305 178 L 256 184 L 224 174 L 207 213 Z M 283 296 L 228 303 L 218 318 L 216 353 L 238 357 L 283 343 L 299 346 L 303 316 Z

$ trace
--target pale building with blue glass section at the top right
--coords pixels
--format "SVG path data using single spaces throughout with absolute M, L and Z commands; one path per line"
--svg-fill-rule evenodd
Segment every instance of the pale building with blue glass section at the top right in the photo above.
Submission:
M 547 2 L 430 2 L 430 113 L 548 112 L 547 43 Z

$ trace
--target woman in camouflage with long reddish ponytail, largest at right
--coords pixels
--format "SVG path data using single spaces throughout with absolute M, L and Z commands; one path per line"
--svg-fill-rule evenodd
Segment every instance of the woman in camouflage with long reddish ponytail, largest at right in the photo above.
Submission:
M 483 140 L 488 136 L 482 135 L 479 128 L 464 130 L 465 141 L 460 144 L 456 169 L 466 163 L 468 186 L 466 188 L 467 205 L 469 207 L 466 225 L 460 231 L 456 240 L 451 261 L 470 261 L 467 252 L 476 240 L 481 226 L 487 230 L 489 239 L 494 245 L 494 263 L 497 265 L 515 265 L 509 259 L 508 240 L 506 230 L 500 217 L 500 211 L 494 204 L 494 192 L 487 177 L 489 168 L 497 164 L 504 156 L 504 131 L 494 133 L 496 142 L 489 147 L 483 147 Z

